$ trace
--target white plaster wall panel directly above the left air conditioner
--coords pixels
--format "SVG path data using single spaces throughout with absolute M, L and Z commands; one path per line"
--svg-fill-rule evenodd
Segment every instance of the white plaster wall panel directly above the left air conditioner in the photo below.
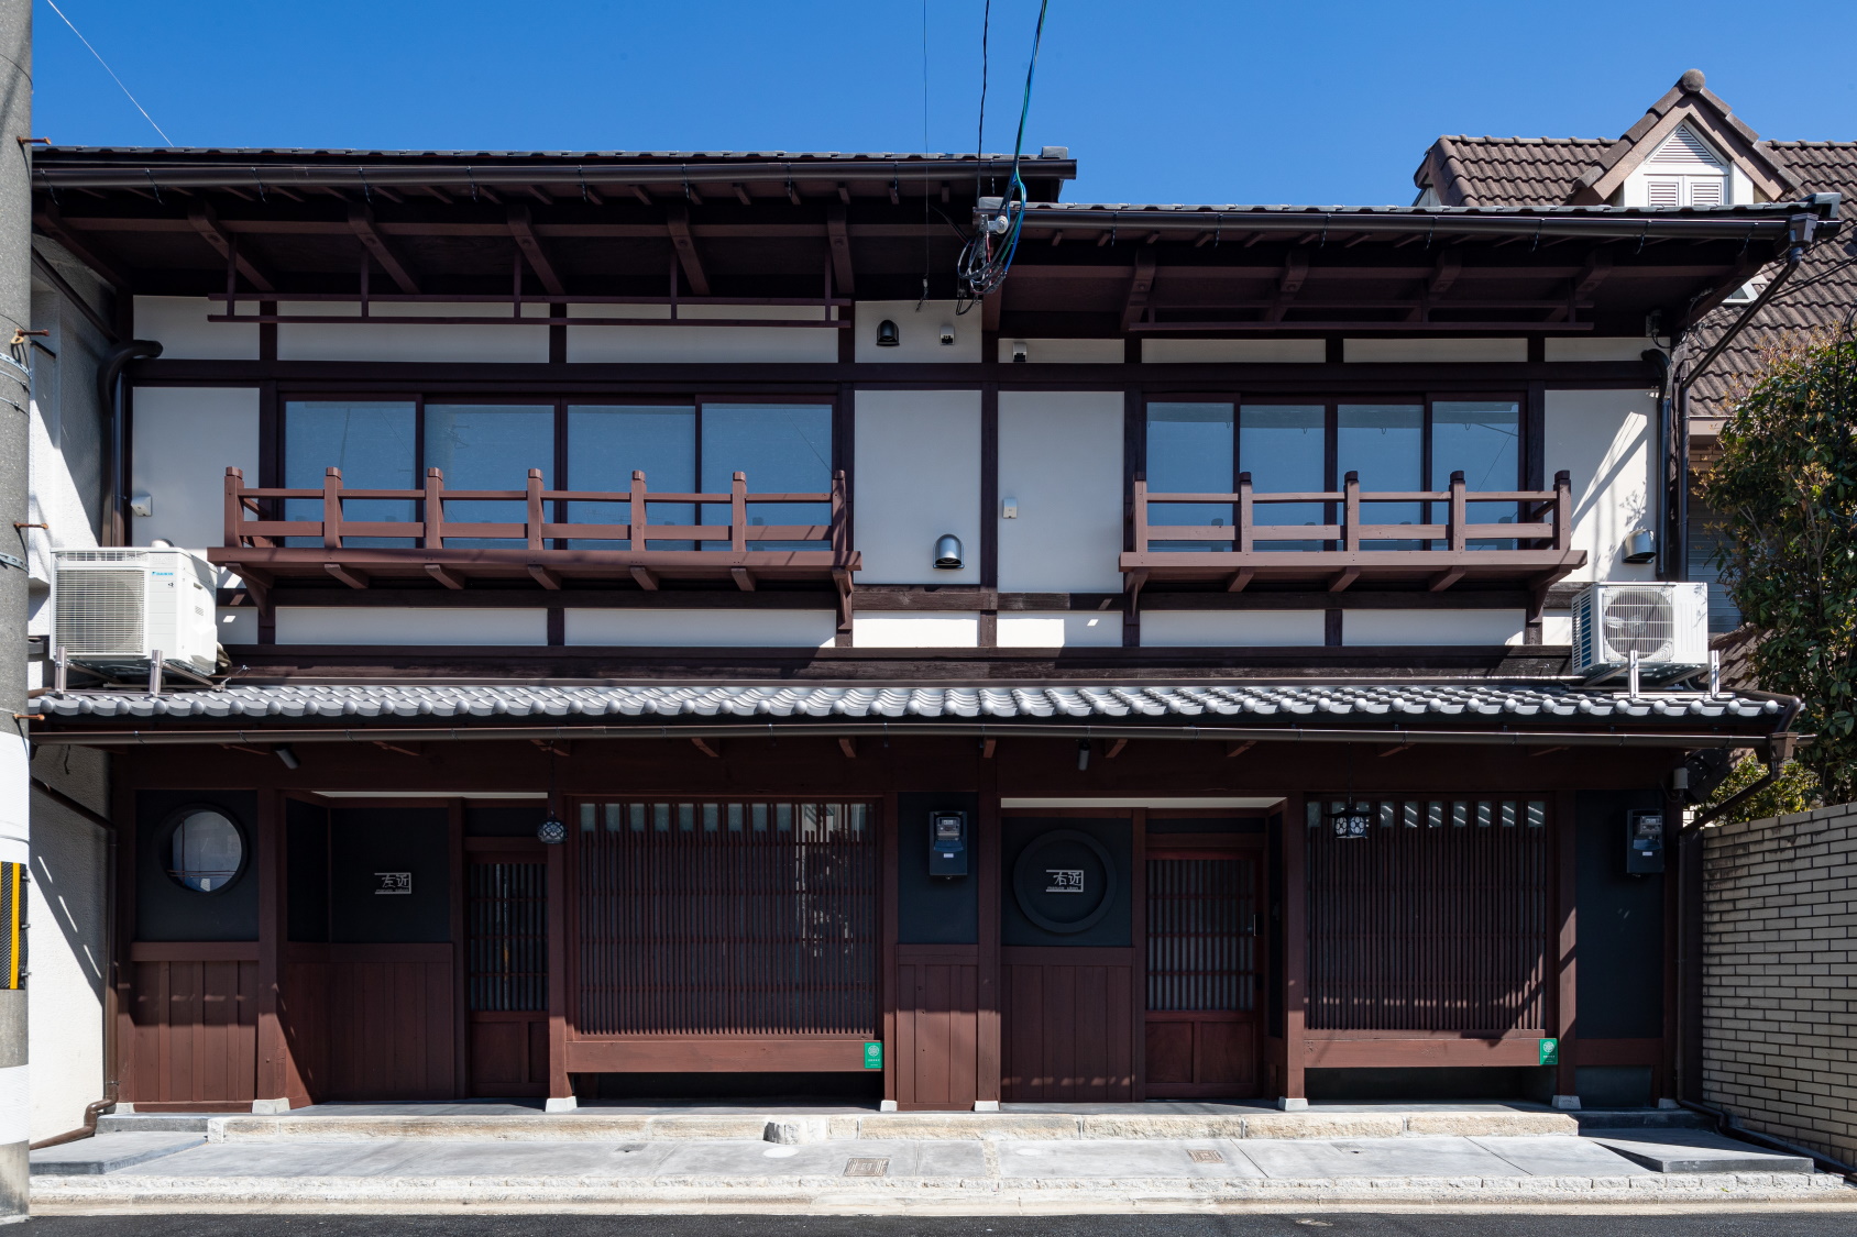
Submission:
M 245 485 L 258 485 L 254 386 L 137 386 L 128 492 L 149 494 L 154 511 L 130 516 L 130 544 L 223 542 L 227 468 L 243 468 Z

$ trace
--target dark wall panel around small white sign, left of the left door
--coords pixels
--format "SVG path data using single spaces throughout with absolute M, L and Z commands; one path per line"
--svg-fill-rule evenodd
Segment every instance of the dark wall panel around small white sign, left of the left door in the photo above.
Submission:
M 329 940 L 451 940 L 451 845 L 444 808 L 334 808 L 329 814 Z M 410 871 L 412 893 L 375 893 L 375 873 Z

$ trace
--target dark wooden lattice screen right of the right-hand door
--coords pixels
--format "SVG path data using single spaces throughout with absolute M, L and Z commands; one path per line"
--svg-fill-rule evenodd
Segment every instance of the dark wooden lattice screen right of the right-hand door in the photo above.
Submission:
M 1309 1027 L 1541 1031 L 1547 802 L 1309 802 Z

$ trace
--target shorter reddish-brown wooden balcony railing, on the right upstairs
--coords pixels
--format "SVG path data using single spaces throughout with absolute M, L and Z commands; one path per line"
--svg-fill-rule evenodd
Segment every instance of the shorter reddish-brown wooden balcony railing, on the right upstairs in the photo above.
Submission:
M 1157 524 L 1153 505 L 1203 503 L 1231 509 L 1231 524 Z M 1324 524 L 1268 524 L 1257 509 L 1320 503 Z M 1374 503 L 1428 503 L 1443 522 L 1369 524 Z M 1473 524 L 1478 503 L 1502 503 L 1513 520 Z M 1213 548 L 1155 548 L 1155 542 L 1214 542 Z M 1270 544 L 1278 542 L 1278 544 Z M 1398 544 L 1385 544 L 1398 542 Z M 1356 581 L 1413 583 L 1434 592 L 1458 581 L 1506 581 L 1545 591 L 1584 566 L 1573 548 L 1573 483 L 1554 475 L 1552 490 L 1469 490 L 1450 474 L 1445 490 L 1361 492 L 1359 474 L 1343 488 L 1305 494 L 1257 494 L 1252 474 L 1239 474 L 1235 494 L 1157 494 L 1135 483 L 1135 548 L 1122 555 L 1127 589 L 1140 594 L 1153 581 L 1224 581 L 1239 592 L 1253 581 L 1320 585 L 1331 592 Z

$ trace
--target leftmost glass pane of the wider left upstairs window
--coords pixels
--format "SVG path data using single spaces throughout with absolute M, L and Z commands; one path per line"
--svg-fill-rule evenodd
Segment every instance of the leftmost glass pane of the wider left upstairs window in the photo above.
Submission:
M 349 490 L 418 488 L 414 405 L 297 401 L 284 403 L 284 487 L 323 488 L 323 472 L 342 470 Z M 256 479 L 253 479 L 256 483 Z M 345 520 L 412 520 L 412 500 L 355 498 L 342 503 Z M 284 501 L 286 520 L 321 520 L 323 500 Z M 290 537 L 286 546 L 321 546 L 319 537 Z M 414 546 L 412 537 L 344 537 L 345 546 Z

